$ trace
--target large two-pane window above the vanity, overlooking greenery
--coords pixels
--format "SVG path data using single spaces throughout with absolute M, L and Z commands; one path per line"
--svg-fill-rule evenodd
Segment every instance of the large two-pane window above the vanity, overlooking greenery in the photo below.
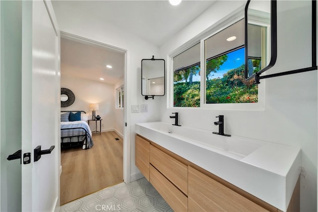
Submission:
M 262 68 L 264 55 L 266 52 L 262 50 L 248 58 L 250 70 L 256 72 Z M 173 57 L 173 106 L 257 103 L 258 86 L 244 78 L 244 56 L 244 19 L 241 19 Z M 204 67 L 200 66 L 201 57 Z

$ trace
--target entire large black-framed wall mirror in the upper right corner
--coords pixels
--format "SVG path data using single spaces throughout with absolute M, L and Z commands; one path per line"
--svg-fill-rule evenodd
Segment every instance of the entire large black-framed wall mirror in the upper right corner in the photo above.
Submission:
M 277 25 L 285 27 L 278 31 Z M 260 79 L 315 71 L 317 70 L 316 44 L 316 0 L 247 1 L 245 79 L 254 78 L 255 83 L 259 84 Z M 283 51 L 278 51 L 278 45 Z M 284 64 L 284 68 L 279 72 L 268 71 L 266 75 L 261 75 L 277 64 L 278 55 L 277 62 Z

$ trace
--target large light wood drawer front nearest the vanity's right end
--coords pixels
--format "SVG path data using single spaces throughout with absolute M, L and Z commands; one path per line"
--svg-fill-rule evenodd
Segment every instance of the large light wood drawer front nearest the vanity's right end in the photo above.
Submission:
M 205 174 L 188 167 L 188 211 L 264 212 L 266 209 Z

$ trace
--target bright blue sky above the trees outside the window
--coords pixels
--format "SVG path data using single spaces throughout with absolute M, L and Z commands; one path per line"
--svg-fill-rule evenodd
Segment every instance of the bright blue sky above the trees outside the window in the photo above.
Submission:
M 225 73 L 231 69 L 237 68 L 244 64 L 244 48 L 236 50 L 228 54 L 228 60 L 220 67 L 216 73 L 211 73 L 209 79 L 222 78 Z M 212 76 L 212 74 L 214 76 Z M 193 76 L 193 81 L 200 81 L 200 76 Z

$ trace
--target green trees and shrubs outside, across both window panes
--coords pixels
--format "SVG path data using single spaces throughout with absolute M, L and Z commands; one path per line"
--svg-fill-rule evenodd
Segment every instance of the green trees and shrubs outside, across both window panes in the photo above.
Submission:
M 242 54 L 243 48 L 239 54 Z M 237 50 L 238 51 L 238 50 Z M 234 51 L 236 52 L 236 51 Z M 232 52 L 210 59 L 206 62 L 206 103 L 256 103 L 258 102 L 258 87 L 254 81 L 244 80 L 244 64 L 225 72 L 222 65 L 227 62 Z M 238 54 L 238 52 L 236 52 Z M 244 56 L 240 56 L 243 58 Z M 260 59 L 250 60 L 254 72 L 260 69 Z M 218 73 L 219 72 L 219 73 Z M 216 74 L 223 77 L 216 77 Z M 174 103 L 175 107 L 200 106 L 200 65 L 174 73 Z

